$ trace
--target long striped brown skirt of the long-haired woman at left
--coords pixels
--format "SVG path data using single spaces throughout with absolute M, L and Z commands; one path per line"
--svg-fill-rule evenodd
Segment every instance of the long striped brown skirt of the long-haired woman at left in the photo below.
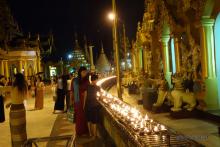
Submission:
M 27 140 L 24 104 L 12 104 L 9 117 L 12 147 L 21 147 Z

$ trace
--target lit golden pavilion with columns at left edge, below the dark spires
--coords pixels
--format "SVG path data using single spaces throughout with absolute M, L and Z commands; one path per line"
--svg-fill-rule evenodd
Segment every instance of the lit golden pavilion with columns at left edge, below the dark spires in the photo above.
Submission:
M 19 42 L 21 41 L 21 42 Z M 26 77 L 42 71 L 38 37 L 35 41 L 26 42 L 25 39 L 15 42 L 15 46 L 8 44 L 7 50 L 0 50 L 1 75 L 13 77 L 17 72 Z

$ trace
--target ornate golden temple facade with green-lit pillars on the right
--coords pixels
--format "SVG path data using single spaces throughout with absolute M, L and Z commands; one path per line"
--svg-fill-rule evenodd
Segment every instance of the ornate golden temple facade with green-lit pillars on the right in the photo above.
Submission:
M 145 0 L 132 43 L 133 72 L 200 79 L 207 109 L 220 108 L 220 4 L 218 0 Z

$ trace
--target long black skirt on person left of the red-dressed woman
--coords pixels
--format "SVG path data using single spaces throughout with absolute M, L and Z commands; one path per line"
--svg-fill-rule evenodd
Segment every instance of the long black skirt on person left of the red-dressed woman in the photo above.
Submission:
M 54 110 L 64 110 L 65 92 L 62 89 L 57 89 L 57 100 L 55 102 Z

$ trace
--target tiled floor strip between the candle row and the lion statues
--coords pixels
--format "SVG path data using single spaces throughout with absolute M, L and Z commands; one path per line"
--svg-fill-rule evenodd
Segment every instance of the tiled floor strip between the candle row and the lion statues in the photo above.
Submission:
M 116 87 L 110 89 L 110 93 L 116 94 Z M 207 146 L 220 147 L 220 136 L 217 134 L 218 127 L 212 122 L 207 122 L 199 119 L 173 119 L 169 113 L 154 114 L 143 108 L 142 105 L 137 104 L 138 95 L 129 95 L 127 89 L 124 90 L 123 100 L 130 105 L 139 109 L 143 114 L 148 114 L 154 120 L 180 132 L 187 137 Z

